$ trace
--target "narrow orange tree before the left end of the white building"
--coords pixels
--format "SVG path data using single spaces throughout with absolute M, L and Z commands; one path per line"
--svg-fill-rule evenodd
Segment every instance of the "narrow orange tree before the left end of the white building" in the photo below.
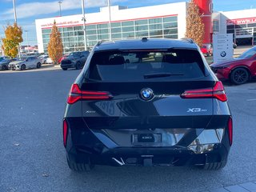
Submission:
M 61 33 L 58 31 L 56 22 L 54 21 L 54 26 L 51 28 L 50 42 L 48 43 L 48 54 L 54 64 L 58 63 L 58 60 L 62 58 L 63 45 Z

